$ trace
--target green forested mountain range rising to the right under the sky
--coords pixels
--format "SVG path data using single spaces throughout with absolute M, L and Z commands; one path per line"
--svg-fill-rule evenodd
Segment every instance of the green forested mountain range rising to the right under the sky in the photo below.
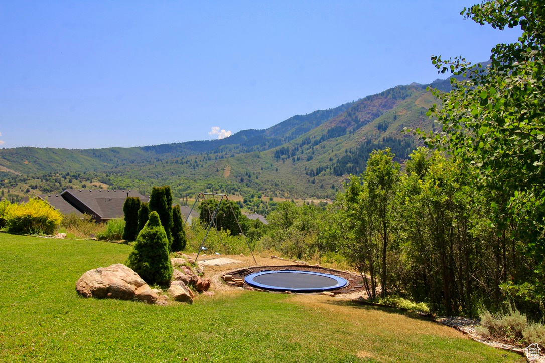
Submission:
M 432 87 L 446 89 L 449 82 L 438 79 Z M 221 140 L 88 150 L 3 149 L 0 188 L 12 194 L 48 193 L 94 182 L 149 193 L 154 185 L 169 184 L 178 198 L 201 190 L 334 198 L 347 175 L 365 169 L 372 150 L 390 147 L 404 161 L 415 140 L 403 128 L 432 130 L 425 114 L 433 100 L 426 85 L 413 83 Z

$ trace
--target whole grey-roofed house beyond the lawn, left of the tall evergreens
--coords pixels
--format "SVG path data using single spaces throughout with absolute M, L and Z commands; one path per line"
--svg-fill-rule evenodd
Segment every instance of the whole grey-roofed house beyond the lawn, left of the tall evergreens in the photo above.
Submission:
M 41 194 L 38 198 L 46 200 L 63 214 L 70 212 L 83 217 L 90 214 L 96 222 L 123 218 L 123 205 L 128 196 L 137 196 L 147 202 L 149 196 L 130 189 L 66 189 L 60 194 Z

